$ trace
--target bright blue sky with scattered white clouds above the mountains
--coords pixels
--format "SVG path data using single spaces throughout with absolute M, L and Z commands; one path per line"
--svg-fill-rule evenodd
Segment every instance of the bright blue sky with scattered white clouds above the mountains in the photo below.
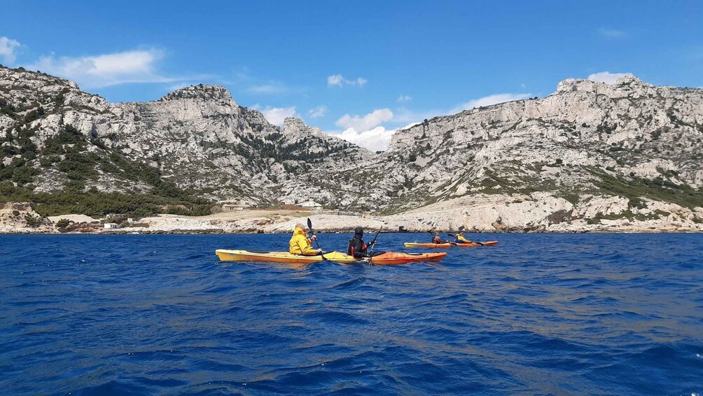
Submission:
M 113 102 L 221 84 L 273 122 L 295 114 L 325 132 L 351 128 L 347 139 L 373 148 L 394 128 L 546 96 L 569 77 L 632 73 L 657 85 L 703 86 L 700 1 L 13 1 L 2 8 L 4 65 L 73 79 Z

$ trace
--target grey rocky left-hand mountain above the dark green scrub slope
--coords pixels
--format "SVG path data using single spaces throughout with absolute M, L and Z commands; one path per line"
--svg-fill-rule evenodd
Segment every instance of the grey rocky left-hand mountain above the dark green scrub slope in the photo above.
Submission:
M 179 89 L 157 101 L 112 104 L 64 79 L 0 68 L 0 100 L 5 109 L 0 115 L 0 133 L 6 136 L 2 144 L 31 139 L 38 155 L 30 165 L 39 164 L 46 141 L 70 126 L 93 143 L 157 167 L 183 189 L 220 200 L 276 202 L 271 191 L 296 174 L 373 156 L 300 120 L 285 120 L 280 129 L 257 110 L 239 106 L 224 87 L 212 85 Z M 65 186 L 56 167 L 34 169 L 39 174 L 32 182 L 39 191 Z M 118 179 L 98 169 L 86 188 L 112 191 Z M 127 184 L 125 189 L 146 187 Z

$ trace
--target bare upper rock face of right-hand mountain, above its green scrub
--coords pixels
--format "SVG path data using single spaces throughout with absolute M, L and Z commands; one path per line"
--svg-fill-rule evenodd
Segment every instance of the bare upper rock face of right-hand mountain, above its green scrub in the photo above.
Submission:
M 413 181 L 446 174 L 432 178 L 434 186 L 449 181 L 456 195 L 475 191 L 477 179 L 498 189 L 530 178 L 557 188 L 590 186 L 597 171 L 588 167 L 698 188 L 702 142 L 702 89 L 654 88 L 635 77 L 612 85 L 567 79 L 546 98 L 418 124 L 395 134 L 385 157 L 405 161 Z M 459 169 L 465 172 L 446 172 Z

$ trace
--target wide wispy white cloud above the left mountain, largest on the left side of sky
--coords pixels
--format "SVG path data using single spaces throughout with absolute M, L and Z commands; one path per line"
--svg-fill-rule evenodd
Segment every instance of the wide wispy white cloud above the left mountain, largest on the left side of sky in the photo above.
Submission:
M 106 53 L 96 56 L 72 58 L 53 54 L 42 56 L 37 63 L 28 65 L 78 82 L 84 88 L 101 88 L 127 83 L 180 82 L 198 77 L 165 77 L 157 70 L 157 62 L 165 56 L 160 49 L 134 50 Z

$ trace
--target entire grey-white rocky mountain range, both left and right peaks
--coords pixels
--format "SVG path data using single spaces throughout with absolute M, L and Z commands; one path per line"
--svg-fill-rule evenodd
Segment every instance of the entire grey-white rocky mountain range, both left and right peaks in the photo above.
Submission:
M 415 216 L 406 223 L 418 229 L 703 223 L 703 90 L 653 87 L 636 77 L 615 84 L 567 79 L 546 98 L 435 117 L 396 132 L 388 150 L 373 155 L 301 120 L 273 126 L 223 87 L 111 104 L 63 79 L 0 68 L 2 163 L 26 160 L 33 170 L 13 179 L 15 186 L 52 191 L 72 182 L 62 165 L 67 154 L 44 155 L 67 127 L 86 139 L 80 155 L 103 158 L 84 186 L 75 185 L 83 189 L 156 188 L 148 178 L 124 177 L 121 167 L 134 165 L 117 155 L 211 200 L 314 199 L 335 209 Z M 16 147 L 22 139 L 25 146 Z M 122 171 L 106 172 L 110 167 Z M 363 183 L 350 182 L 360 177 Z M 418 215 L 423 210 L 437 215 Z

